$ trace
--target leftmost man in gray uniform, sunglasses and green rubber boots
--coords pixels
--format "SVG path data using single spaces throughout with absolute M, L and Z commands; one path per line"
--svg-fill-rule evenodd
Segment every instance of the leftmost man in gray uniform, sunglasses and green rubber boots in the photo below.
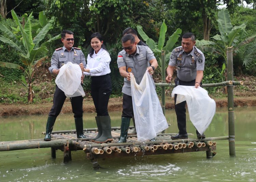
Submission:
M 61 66 L 68 62 L 72 62 L 74 64 L 79 65 L 80 63 L 85 63 L 85 57 L 80 48 L 73 48 L 74 45 L 74 33 L 69 30 L 63 30 L 61 32 L 61 41 L 63 42 L 63 47 L 55 49 L 52 60 L 51 67 L 49 67 L 49 71 L 54 75 L 59 74 L 59 69 Z M 81 82 L 83 82 L 84 76 L 81 77 Z M 48 120 L 46 124 L 46 134 L 44 137 L 44 141 L 51 140 L 51 133 L 53 131 L 53 125 L 55 123 L 56 117 L 59 115 L 61 108 L 66 99 L 65 93 L 58 88 L 56 85 L 55 93 L 53 96 L 53 107 L 48 115 Z M 83 134 L 83 97 L 71 97 L 71 105 L 72 111 L 74 113 L 75 118 L 75 128 L 77 138 L 86 138 Z

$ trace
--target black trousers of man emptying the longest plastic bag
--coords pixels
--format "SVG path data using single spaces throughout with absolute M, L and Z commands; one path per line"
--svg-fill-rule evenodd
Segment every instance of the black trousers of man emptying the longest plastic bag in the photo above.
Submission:
M 133 107 L 132 107 L 132 97 L 123 93 L 123 112 L 122 117 L 132 118 Z

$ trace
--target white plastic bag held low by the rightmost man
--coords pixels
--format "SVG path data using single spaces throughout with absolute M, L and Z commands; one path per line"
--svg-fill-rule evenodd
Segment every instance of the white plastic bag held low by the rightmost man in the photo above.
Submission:
M 190 121 L 202 134 L 212 122 L 216 111 L 215 101 L 201 87 L 179 85 L 172 90 L 172 98 L 174 94 L 177 94 L 176 104 L 187 102 Z

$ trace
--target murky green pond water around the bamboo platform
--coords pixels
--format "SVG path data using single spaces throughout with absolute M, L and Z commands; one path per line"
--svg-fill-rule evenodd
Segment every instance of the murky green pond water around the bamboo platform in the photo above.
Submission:
M 205 152 L 134 156 L 100 159 L 99 170 L 92 168 L 83 151 L 72 151 L 72 161 L 63 163 L 63 152 L 57 150 L 51 159 L 50 148 L 0 152 L 0 182 L 48 181 L 256 181 L 256 107 L 235 109 L 236 157 L 229 156 L 228 141 L 217 142 L 217 154 L 206 158 Z M 110 112 L 112 126 L 120 126 L 121 112 Z M 84 113 L 84 128 L 95 128 L 95 113 Z M 166 132 L 177 132 L 174 110 L 166 111 L 171 126 Z M 0 141 L 43 138 L 47 115 L 0 117 Z M 75 129 L 72 114 L 60 114 L 54 130 Z M 196 133 L 187 114 L 187 131 Z M 217 109 L 207 137 L 228 135 L 227 108 Z M 195 135 L 193 136 L 195 138 Z

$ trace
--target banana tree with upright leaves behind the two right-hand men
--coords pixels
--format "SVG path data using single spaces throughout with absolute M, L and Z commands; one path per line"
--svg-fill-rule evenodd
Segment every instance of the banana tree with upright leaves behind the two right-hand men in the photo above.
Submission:
M 173 50 L 174 44 L 177 42 L 178 38 L 180 37 L 180 34 L 182 32 L 181 29 L 177 29 L 167 40 L 166 45 L 165 44 L 165 34 L 167 32 L 167 26 L 165 24 L 165 20 L 163 20 L 161 28 L 160 28 L 160 34 L 158 39 L 158 44 L 151 38 L 149 38 L 146 33 L 142 30 L 142 26 L 138 25 L 137 30 L 142 37 L 143 40 L 146 41 L 148 47 L 154 52 L 154 55 L 157 59 L 158 65 L 161 69 L 161 50 L 165 50 L 166 54 L 166 67 L 168 66 L 168 62 L 170 59 L 171 52 Z

